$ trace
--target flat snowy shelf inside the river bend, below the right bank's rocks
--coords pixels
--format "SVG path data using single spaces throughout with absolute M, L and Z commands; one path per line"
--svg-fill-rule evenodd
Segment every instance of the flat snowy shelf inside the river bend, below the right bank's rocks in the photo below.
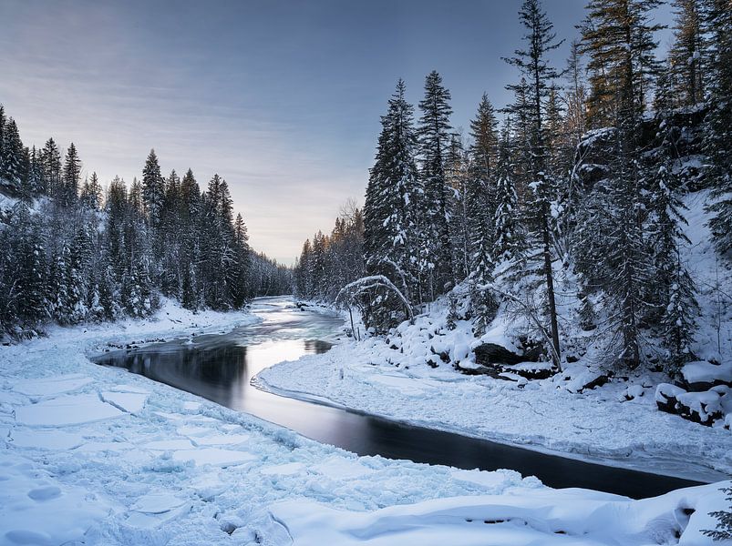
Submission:
M 258 384 L 388 419 L 696 480 L 732 472 L 732 434 L 656 410 L 654 381 L 574 393 L 551 379 L 530 385 L 428 366 L 396 367 L 383 339 L 345 342 L 325 355 L 265 369 Z M 643 388 L 644 380 L 647 381 Z

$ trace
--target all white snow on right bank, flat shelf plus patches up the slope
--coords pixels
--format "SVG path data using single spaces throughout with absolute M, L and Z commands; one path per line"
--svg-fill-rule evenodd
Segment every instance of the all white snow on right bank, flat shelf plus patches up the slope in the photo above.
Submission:
M 693 349 L 697 358 L 717 362 L 704 370 L 711 367 L 719 376 L 732 366 L 732 313 L 718 305 L 715 286 L 732 293 L 732 270 L 715 264 L 705 199 L 705 191 L 686 199 L 686 234 L 691 240 L 686 260 L 704 309 Z M 559 278 L 558 290 L 576 291 L 571 282 Z M 347 340 L 324 355 L 265 369 L 257 384 L 293 398 L 318 399 L 388 419 L 631 469 L 706 481 L 725 480 L 732 473 L 732 432 L 725 420 L 706 427 L 656 409 L 655 387 L 668 381 L 665 375 L 630 374 L 627 381 L 578 392 L 597 377 L 593 358 L 602 349 L 593 354 L 588 348 L 586 358 L 565 365 L 563 373 L 550 379 L 527 382 L 519 376 L 510 381 L 460 374 L 452 364 L 475 367 L 470 348 L 479 341 L 468 321 L 459 320 L 452 330 L 446 327 L 446 300 L 433 304 L 414 325 L 401 324 L 399 335 L 387 342 Z M 571 321 L 566 322 L 562 328 L 578 335 Z M 512 332 L 517 329 L 521 325 L 508 324 L 504 313 L 481 340 L 515 351 Z M 591 343 L 588 340 L 587 346 Z M 450 362 L 441 362 L 439 353 L 448 355 Z M 430 360 L 435 368 L 428 366 Z M 702 379 L 708 379 L 706 375 Z M 710 396 L 716 408 L 724 406 L 727 423 L 732 423 L 732 396 Z

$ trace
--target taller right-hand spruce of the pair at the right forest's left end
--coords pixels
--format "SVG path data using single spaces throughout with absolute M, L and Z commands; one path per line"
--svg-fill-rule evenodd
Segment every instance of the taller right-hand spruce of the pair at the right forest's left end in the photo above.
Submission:
M 419 102 L 418 138 L 421 159 L 420 177 L 424 185 L 425 253 L 430 298 L 445 293 L 452 284 L 448 230 L 448 184 L 445 162 L 450 140 L 450 93 L 442 76 L 432 71 L 425 78 L 425 96 Z

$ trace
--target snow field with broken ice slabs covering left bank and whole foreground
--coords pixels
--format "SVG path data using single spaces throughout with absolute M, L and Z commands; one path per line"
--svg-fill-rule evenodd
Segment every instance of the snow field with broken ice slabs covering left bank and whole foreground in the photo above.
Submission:
M 631 501 L 358 458 L 85 356 L 253 320 L 167 304 L 0 348 L 0 544 L 712 543 L 723 483 Z

